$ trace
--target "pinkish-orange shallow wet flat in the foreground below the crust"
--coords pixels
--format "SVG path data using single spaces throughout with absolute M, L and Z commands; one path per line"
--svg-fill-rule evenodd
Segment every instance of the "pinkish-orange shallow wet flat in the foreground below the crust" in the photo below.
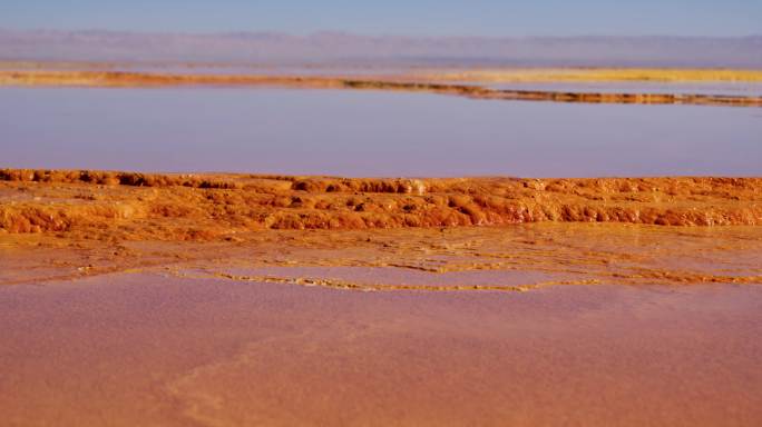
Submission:
M 148 272 L 2 287 L 0 413 L 10 426 L 754 426 L 761 310 L 762 288 L 732 285 L 356 292 Z

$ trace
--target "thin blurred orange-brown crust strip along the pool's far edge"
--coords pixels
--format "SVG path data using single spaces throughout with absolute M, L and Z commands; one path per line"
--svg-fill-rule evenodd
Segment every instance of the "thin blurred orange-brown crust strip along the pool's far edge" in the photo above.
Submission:
M 492 89 L 478 85 L 432 82 L 431 78 L 427 78 L 427 80 L 409 80 L 406 77 L 346 78 L 271 75 L 173 75 L 125 71 L 0 70 L 0 86 L 102 88 L 184 86 L 289 87 L 427 92 L 471 99 L 511 101 L 762 107 L 762 97 L 755 96 Z

